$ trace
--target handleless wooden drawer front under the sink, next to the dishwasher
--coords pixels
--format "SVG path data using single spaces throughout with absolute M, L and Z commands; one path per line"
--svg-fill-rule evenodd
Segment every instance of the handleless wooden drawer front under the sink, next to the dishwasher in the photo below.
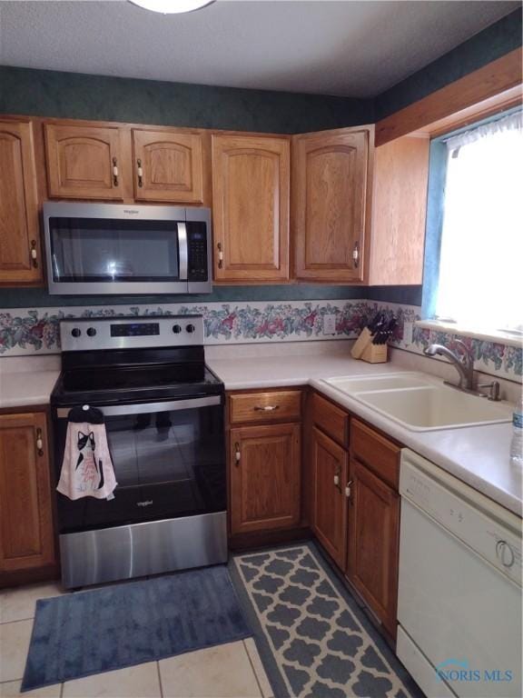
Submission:
M 368 465 L 380 478 L 398 489 L 400 446 L 357 419 L 350 423 L 350 446 L 352 455 L 360 463 Z

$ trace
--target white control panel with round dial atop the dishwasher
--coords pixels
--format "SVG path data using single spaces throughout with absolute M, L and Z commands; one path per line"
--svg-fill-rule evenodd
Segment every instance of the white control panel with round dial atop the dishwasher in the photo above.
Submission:
M 401 457 L 400 494 L 521 585 L 521 523 L 515 514 L 408 451 Z

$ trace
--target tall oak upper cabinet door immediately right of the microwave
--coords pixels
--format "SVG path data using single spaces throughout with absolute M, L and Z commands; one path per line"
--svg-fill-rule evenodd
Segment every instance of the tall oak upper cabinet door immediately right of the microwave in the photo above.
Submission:
M 212 136 L 216 281 L 289 279 L 290 141 Z

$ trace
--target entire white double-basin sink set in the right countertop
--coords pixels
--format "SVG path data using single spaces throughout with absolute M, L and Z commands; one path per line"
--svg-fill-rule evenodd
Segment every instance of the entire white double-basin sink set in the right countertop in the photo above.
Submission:
M 345 376 L 325 383 L 414 432 L 497 424 L 512 417 L 506 403 L 461 393 L 425 374 Z

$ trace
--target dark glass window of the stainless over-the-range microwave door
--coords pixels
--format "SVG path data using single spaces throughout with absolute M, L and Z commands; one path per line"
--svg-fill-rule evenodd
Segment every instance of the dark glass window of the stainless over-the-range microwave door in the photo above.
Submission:
M 50 218 L 54 282 L 180 280 L 174 221 Z

